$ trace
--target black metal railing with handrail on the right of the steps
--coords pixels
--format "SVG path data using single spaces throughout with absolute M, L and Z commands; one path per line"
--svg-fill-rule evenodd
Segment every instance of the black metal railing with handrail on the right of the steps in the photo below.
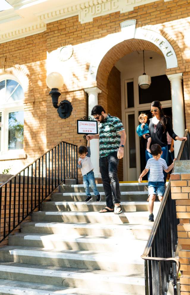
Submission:
M 190 133 L 187 129 L 184 136 L 187 141 L 181 142 L 177 160 L 190 160 Z M 180 262 L 174 258 L 178 243 L 178 223 L 169 180 L 144 253 L 141 255 L 145 260 L 145 295 L 166 295 L 170 279 L 173 279 L 173 294 L 178 294 Z

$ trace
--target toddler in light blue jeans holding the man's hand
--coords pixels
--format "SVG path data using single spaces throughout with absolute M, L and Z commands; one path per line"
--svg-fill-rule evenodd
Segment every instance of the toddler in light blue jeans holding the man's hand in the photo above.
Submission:
M 85 202 L 89 202 L 90 200 L 92 200 L 90 190 L 89 190 L 89 185 L 91 186 L 95 194 L 96 202 L 100 202 L 101 197 L 96 187 L 93 166 L 90 160 L 90 141 L 89 140 L 87 141 L 87 147 L 84 145 L 81 145 L 78 148 L 78 153 L 80 156 L 80 158 L 78 159 L 78 168 L 81 168 L 83 184 L 84 184 L 85 193 L 87 196 Z

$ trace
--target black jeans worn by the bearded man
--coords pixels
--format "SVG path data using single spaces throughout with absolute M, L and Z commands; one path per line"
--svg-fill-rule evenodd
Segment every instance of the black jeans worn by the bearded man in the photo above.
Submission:
M 106 206 L 109 208 L 113 208 L 115 203 L 121 202 L 120 185 L 117 175 L 118 164 L 119 159 L 117 158 L 117 152 L 99 159 L 100 173 L 106 197 Z

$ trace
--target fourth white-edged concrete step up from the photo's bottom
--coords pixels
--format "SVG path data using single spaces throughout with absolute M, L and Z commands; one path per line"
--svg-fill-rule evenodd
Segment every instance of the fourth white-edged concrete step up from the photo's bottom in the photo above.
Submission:
M 96 236 L 65 236 L 58 234 L 27 234 L 18 233 L 9 236 L 10 246 L 43 247 L 62 250 L 92 250 L 103 252 L 125 251 L 132 247 L 138 255 L 143 253 L 147 241 L 145 239 L 131 239 L 128 243 L 126 237 L 96 237 Z

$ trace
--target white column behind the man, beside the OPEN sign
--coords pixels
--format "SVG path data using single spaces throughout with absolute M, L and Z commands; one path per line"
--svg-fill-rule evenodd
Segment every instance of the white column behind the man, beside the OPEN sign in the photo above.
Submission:
M 98 93 L 102 91 L 98 87 L 91 87 L 84 89 L 88 93 L 88 116 L 91 116 L 91 111 L 94 106 L 98 104 Z M 99 139 L 90 140 L 90 151 L 91 151 L 91 161 L 94 167 L 95 178 L 101 178 L 100 168 L 99 168 Z

